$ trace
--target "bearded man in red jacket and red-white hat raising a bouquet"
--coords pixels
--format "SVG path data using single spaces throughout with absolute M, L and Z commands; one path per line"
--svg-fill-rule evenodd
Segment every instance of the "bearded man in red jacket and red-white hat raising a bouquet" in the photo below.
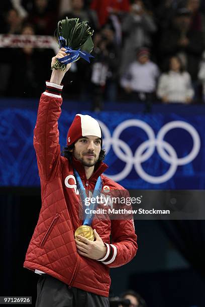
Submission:
M 52 58 L 51 67 L 64 56 L 65 49 L 61 48 Z M 83 195 L 86 197 L 88 190 L 94 190 L 93 197 L 95 191 L 117 190 L 119 197 L 128 193 L 102 175 L 108 166 L 102 162 L 105 151 L 101 148 L 100 126 L 91 116 L 75 116 L 64 157 L 61 156 L 57 121 L 62 104 L 61 81 L 66 71 L 53 69 L 39 103 L 34 147 L 42 207 L 24 267 L 41 274 L 36 307 L 109 306 L 109 269 L 132 260 L 137 236 L 132 218 L 112 220 L 96 214 L 94 218 L 85 216 L 83 221 L 80 217 Z M 88 232 L 83 232 L 82 227 Z M 95 240 L 91 241 L 90 236 Z

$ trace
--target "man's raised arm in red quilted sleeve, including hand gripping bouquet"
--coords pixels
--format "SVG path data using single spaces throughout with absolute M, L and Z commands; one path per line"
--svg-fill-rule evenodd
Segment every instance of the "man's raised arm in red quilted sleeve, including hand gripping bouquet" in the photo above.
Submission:
M 67 55 L 65 50 L 61 48 L 58 54 L 52 58 L 51 67 L 55 64 L 56 59 Z M 46 181 L 53 180 L 59 174 L 60 145 L 57 121 L 61 114 L 61 91 L 63 88 L 61 81 L 70 66 L 71 64 L 68 64 L 64 72 L 53 69 L 50 82 L 46 82 L 46 91 L 41 95 L 39 102 L 34 129 L 34 148 L 39 176 Z

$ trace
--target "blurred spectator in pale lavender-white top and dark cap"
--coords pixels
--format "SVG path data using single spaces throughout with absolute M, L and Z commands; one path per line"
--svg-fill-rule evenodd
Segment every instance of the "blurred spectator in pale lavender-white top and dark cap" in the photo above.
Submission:
M 121 86 L 127 93 L 127 99 L 145 102 L 145 111 L 151 110 L 155 99 L 156 81 L 159 69 L 150 61 L 147 48 L 141 48 L 137 53 L 137 60 L 132 62 L 121 79 Z

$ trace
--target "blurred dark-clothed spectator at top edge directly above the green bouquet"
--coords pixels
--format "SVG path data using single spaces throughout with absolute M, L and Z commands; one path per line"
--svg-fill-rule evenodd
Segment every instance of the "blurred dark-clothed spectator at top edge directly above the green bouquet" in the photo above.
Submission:
M 70 2 L 71 9 L 69 12 L 64 14 L 68 18 L 76 18 L 78 17 L 80 21 L 88 21 L 88 24 L 91 29 L 94 31 L 99 29 L 99 22 L 97 18 L 97 14 L 94 10 L 89 10 L 84 8 L 84 0 L 71 0 Z M 61 18 L 61 19 L 62 19 Z

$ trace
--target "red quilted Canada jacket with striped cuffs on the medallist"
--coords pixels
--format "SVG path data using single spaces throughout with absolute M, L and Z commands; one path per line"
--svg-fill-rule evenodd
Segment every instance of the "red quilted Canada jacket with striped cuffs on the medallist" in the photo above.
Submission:
M 85 188 L 93 190 L 98 176 L 107 169 L 107 165 L 100 163 L 92 177 L 86 180 L 84 167 L 79 161 L 73 159 L 69 163 L 60 155 L 57 120 L 61 113 L 61 86 L 49 82 L 47 86 L 49 89 L 40 99 L 34 129 L 42 207 L 24 267 L 50 274 L 69 286 L 108 296 L 110 267 L 121 266 L 136 254 L 137 236 L 133 221 L 93 219 L 91 227 L 96 229 L 107 245 L 107 255 L 101 259 L 104 261 L 97 261 L 77 253 L 74 232 L 82 225 L 82 221 L 78 216 L 80 198 L 76 194 L 73 168 L 80 174 Z M 101 175 L 101 179 L 103 186 L 125 191 L 104 175 Z

